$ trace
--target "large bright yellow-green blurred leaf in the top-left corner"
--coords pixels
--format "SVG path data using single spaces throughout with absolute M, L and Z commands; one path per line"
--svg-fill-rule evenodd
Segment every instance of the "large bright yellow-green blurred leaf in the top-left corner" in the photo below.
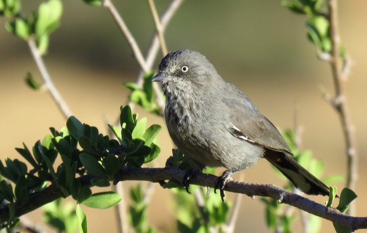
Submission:
M 35 33 L 38 37 L 51 33 L 59 24 L 63 5 L 61 0 L 49 0 L 41 3 L 38 8 L 38 18 L 35 25 Z

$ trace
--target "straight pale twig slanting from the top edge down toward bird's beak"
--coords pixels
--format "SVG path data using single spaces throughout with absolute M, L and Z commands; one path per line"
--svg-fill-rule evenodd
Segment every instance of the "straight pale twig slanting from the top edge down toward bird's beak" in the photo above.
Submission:
M 133 50 L 135 59 L 137 60 L 140 68 L 144 71 L 144 73 L 149 71 L 149 67 L 147 66 L 143 54 L 140 51 L 138 43 L 136 42 L 135 38 L 131 34 L 129 28 L 126 26 L 125 22 L 122 20 L 120 14 L 118 14 L 115 5 L 112 3 L 111 0 L 104 0 L 103 6 L 106 7 L 112 16 L 114 17 L 118 27 L 120 28 L 121 32 L 124 34 L 127 42 L 129 43 L 131 49 Z

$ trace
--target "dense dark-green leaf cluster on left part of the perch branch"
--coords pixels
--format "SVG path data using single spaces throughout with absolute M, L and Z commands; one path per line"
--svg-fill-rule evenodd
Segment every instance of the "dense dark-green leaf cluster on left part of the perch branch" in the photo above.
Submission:
M 117 204 L 121 199 L 118 194 L 92 194 L 90 187 L 108 187 L 121 167 L 141 167 L 155 159 L 161 149 L 153 141 L 162 128 L 146 128 L 146 118 L 138 121 L 138 114 L 132 114 L 130 106 L 121 106 L 120 123 L 121 127 L 109 126 L 117 137 L 110 139 L 71 116 L 67 127 L 60 131 L 51 127 L 51 134 L 37 141 L 31 150 L 24 144 L 16 148 L 31 169 L 18 159 L 6 158 L 5 164 L 0 161 L 0 174 L 6 178 L 0 181 L 0 201 L 6 201 L 12 213 L 8 226 L 13 226 L 16 217 L 14 205 L 26 204 L 29 195 L 50 184 L 79 204 L 99 209 Z M 61 164 L 56 163 L 57 158 L 61 158 Z M 84 175 L 92 175 L 90 184 L 81 183 L 78 177 Z

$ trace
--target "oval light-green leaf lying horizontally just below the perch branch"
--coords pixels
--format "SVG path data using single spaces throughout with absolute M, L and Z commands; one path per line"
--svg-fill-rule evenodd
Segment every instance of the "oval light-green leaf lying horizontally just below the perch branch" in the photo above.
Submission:
M 120 202 L 121 196 L 116 192 L 98 192 L 83 202 L 84 205 L 96 209 L 108 209 Z

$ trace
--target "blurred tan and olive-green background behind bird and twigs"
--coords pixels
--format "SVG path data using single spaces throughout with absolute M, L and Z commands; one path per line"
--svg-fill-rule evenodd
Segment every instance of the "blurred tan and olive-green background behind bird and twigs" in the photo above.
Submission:
M 23 1 L 25 14 L 37 9 L 41 0 Z M 135 80 L 139 67 L 131 49 L 107 9 L 91 7 L 81 0 L 64 0 L 62 25 L 51 35 L 48 54 L 44 57 L 48 71 L 73 115 L 80 121 L 107 132 L 103 117 L 114 122 L 119 106 L 126 103 L 129 91 L 124 82 Z M 114 1 L 145 51 L 154 32 L 146 1 Z M 161 13 L 169 1 L 157 1 Z M 366 99 L 367 99 L 367 1 L 339 1 L 342 43 L 353 60 L 347 83 L 347 98 L 355 126 L 359 153 L 359 181 L 356 193 L 357 215 L 367 216 L 365 180 L 367 165 Z M 169 50 L 189 48 L 204 54 L 221 76 L 243 90 L 263 115 L 280 128 L 294 126 L 297 103 L 298 124 L 303 128 L 302 147 L 313 151 L 325 163 L 324 177 L 345 174 L 346 157 L 339 116 L 322 99 L 322 90 L 333 96 L 330 65 L 316 57 L 315 46 L 306 39 L 305 17 L 294 14 L 278 1 L 187 0 L 174 16 L 165 32 Z M 4 25 L 5 18 L 0 18 Z M 159 63 L 161 55 L 156 61 Z M 157 65 L 155 65 L 157 67 Z M 24 84 L 26 72 L 41 81 L 38 68 L 27 44 L 0 27 L 0 148 L 1 160 L 17 158 L 14 148 L 28 148 L 49 133 L 48 127 L 60 129 L 66 120 L 46 92 L 35 92 Z M 161 118 L 135 108 L 139 116 L 148 117 L 148 125 L 161 124 Z M 164 128 L 161 142 L 168 141 Z M 172 144 L 162 144 L 157 167 L 163 167 L 171 154 Z M 218 172 L 221 170 L 219 169 Z M 274 175 L 267 161 L 252 169 L 240 171 L 244 181 L 273 183 L 282 186 L 285 180 Z M 239 174 L 234 175 L 238 179 Z M 134 185 L 126 182 L 125 187 Z M 335 184 L 338 190 L 344 183 Z M 158 232 L 175 232 L 175 214 L 171 192 L 158 184 L 149 207 L 149 219 Z M 211 193 L 210 195 L 215 195 Z M 128 195 L 125 195 L 128 196 Z M 218 195 L 219 198 L 219 195 Z M 228 193 L 227 200 L 234 199 Z M 310 197 L 324 203 L 324 197 Z M 70 200 L 71 201 L 71 200 Z M 128 200 L 127 200 L 128 201 Z M 259 198 L 243 195 L 242 208 L 236 224 L 240 232 L 268 232 L 265 206 Z M 115 212 L 83 207 L 88 216 L 90 232 L 116 232 Z M 159 212 L 159 214 L 157 214 Z M 42 211 L 26 216 L 42 225 Z M 300 231 L 299 224 L 295 232 Z M 48 231 L 48 230 L 47 230 Z M 323 221 L 322 232 L 333 232 Z

